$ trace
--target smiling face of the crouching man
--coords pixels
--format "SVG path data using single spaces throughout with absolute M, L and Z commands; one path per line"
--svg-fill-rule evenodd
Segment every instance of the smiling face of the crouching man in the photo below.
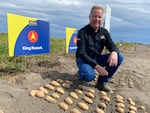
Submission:
M 90 14 L 89 19 L 91 27 L 97 30 L 103 19 L 103 11 L 101 9 L 94 9 Z

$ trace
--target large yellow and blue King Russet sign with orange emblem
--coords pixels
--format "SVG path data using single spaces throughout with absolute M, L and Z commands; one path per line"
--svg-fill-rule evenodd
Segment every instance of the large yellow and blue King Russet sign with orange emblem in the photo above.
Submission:
M 12 13 L 7 21 L 10 57 L 50 52 L 48 22 Z

